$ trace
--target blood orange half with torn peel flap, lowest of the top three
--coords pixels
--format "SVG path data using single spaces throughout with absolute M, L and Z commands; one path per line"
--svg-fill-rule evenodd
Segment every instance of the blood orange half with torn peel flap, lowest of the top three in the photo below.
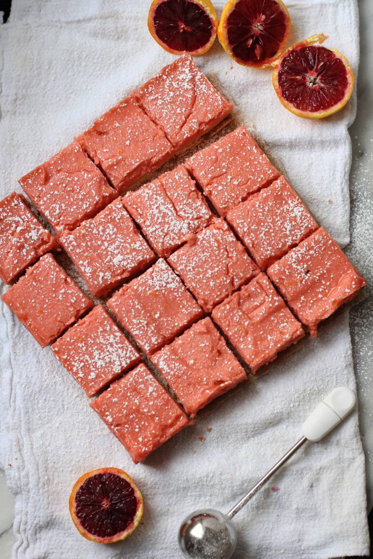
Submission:
M 338 50 L 315 44 L 325 39 L 313 35 L 287 49 L 275 63 L 272 81 L 278 99 L 305 119 L 333 115 L 351 97 L 351 66 Z

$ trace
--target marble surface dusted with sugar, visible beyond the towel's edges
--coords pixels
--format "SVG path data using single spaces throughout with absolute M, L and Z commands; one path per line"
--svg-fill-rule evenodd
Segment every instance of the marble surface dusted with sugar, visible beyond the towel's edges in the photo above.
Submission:
M 373 2 L 360 0 L 361 63 L 358 75 L 356 121 L 350 129 L 353 144 L 351 168 L 351 244 L 347 252 L 368 279 L 369 299 L 351 311 L 351 334 L 355 359 L 360 426 L 367 465 L 368 508 L 373 507 Z M 319 31 L 319 30 L 316 30 Z M 327 30 L 322 30 L 327 32 Z M 0 559 L 9 559 L 12 533 L 13 498 L 0 471 Z

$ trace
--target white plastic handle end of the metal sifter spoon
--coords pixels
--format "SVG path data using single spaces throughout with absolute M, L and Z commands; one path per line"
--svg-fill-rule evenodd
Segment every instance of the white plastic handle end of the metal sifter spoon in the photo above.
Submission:
M 313 410 L 303 424 L 303 435 L 312 442 L 321 440 L 355 408 L 356 395 L 338 386 Z

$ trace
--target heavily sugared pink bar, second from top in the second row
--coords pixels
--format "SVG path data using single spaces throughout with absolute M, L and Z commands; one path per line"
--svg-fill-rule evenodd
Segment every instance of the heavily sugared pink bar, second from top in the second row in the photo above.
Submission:
M 213 214 L 182 165 L 160 175 L 123 203 L 158 256 L 169 256 L 187 235 L 210 225 Z

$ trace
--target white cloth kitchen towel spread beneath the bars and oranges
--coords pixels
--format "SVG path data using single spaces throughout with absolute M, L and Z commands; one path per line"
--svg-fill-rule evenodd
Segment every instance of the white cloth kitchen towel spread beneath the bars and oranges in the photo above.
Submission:
M 13 0 L 11 20 L 0 29 L 0 198 L 19 190 L 17 178 L 174 58 L 148 33 L 149 3 Z M 355 0 L 287 6 L 290 41 L 324 32 L 326 45 L 341 50 L 357 72 Z M 346 244 L 347 127 L 356 95 L 338 115 L 305 121 L 280 105 L 270 70 L 240 67 L 218 42 L 196 62 L 254 122 L 320 224 Z M 176 559 L 177 528 L 188 512 L 205 505 L 229 510 L 299 438 L 305 416 L 328 391 L 355 389 L 344 313 L 135 466 L 50 349 L 39 348 L 7 307 L 1 312 L 0 463 L 16 502 L 13 559 Z M 75 480 L 102 466 L 127 471 L 145 499 L 139 528 L 110 547 L 79 536 L 68 512 Z M 323 442 L 307 444 L 237 515 L 235 558 L 365 555 L 364 467 L 354 413 Z

